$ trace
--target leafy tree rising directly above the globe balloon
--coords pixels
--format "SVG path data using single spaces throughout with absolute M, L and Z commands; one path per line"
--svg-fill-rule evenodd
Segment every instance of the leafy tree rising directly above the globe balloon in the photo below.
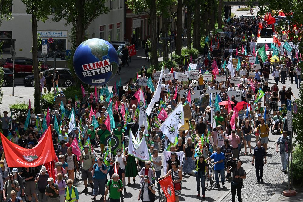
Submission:
M 105 5 L 108 0 L 54 0 L 54 21 L 65 20 L 65 25 L 72 24 L 74 38 L 72 49 L 75 50 L 85 41 L 85 30 L 90 23 L 102 14 L 109 12 Z

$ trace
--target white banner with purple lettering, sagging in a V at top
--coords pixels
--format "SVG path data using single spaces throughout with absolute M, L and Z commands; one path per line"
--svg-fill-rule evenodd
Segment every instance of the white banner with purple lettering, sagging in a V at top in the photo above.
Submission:
M 132 134 L 132 130 L 129 133 L 128 154 L 142 161 L 149 160 L 149 151 L 145 138 L 143 137 L 137 142 Z

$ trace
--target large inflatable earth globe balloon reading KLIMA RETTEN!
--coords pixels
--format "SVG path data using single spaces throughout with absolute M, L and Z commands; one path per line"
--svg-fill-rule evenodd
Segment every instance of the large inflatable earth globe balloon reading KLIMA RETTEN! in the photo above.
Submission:
M 116 75 L 119 58 L 117 51 L 108 41 L 92 38 L 78 46 L 73 66 L 82 82 L 99 86 L 108 83 Z

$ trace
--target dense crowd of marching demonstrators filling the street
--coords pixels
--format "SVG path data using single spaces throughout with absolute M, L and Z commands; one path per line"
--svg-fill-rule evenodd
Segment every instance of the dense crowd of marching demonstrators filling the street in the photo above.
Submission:
M 225 21 L 223 32 L 211 35 L 208 44 L 205 43 L 202 60 L 194 61 L 189 56 L 185 56 L 179 68 L 169 70 L 164 65 L 163 74 L 171 72 L 174 74 L 174 79 L 165 81 L 163 78 L 159 101 L 155 103 L 148 116 L 148 128 L 140 125 L 135 135 L 139 140 L 144 138 L 146 141 L 151 153 L 149 161 L 136 159 L 129 155 L 128 147 L 124 148 L 124 145 L 127 146 L 126 137 L 129 135 L 126 130 L 127 124 L 139 122 L 138 102 L 140 100 L 135 94 L 141 87 L 139 79 L 146 78 L 147 67 L 144 65 L 137 81 L 132 82 L 130 79 L 125 88 L 115 86 L 111 94 L 109 91 L 102 91 L 103 94 L 100 96 L 85 91 L 82 99 L 73 101 L 72 98 L 68 98 L 64 106 L 55 106 L 50 109 L 49 125 L 54 149 L 58 155 L 58 162 L 54 169 L 56 179 L 47 173 L 44 166 L 5 170 L 3 161 L 5 154 L 3 148 L 0 147 L 2 154 L 0 182 L 4 200 L 21 201 L 19 197 L 26 194 L 28 199 L 31 200 L 33 197 L 36 201 L 78 201 L 79 193 L 73 186 L 73 182 L 75 173 L 80 169 L 85 186 L 81 193 L 88 192 L 88 186 L 90 186 L 93 190 L 92 200 L 97 200 L 96 197 L 101 196 L 100 199 L 105 201 L 109 196 L 110 201 L 120 201 L 120 199 L 124 201 L 123 195 L 127 193 L 131 178 L 133 183 L 136 183 L 135 177 L 138 176 L 141 184 L 138 200 L 153 202 L 156 192 L 160 193 L 161 187 L 159 183 L 152 185 L 156 181 L 159 182 L 171 176 L 175 200 L 179 201 L 182 187 L 186 186 L 182 184 L 185 174 L 196 176 L 197 197 L 200 197 L 201 184 L 202 197 L 205 198 L 205 180 L 213 177 L 209 172 L 213 169 L 216 187 L 220 188 L 220 177 L 222 186 L 231 178 L 232 201 L 235 201 L 236 193 L 238 200 L 242 201 L 241 188 L 246 172 L 241 166 L 240 158 L 245 155 L 252 157 L 252 164 L 255 164 L 257 170 L 257 181 L 263 183 L 263 166 L 266 164 L 270 131 L 282 134 L 278 139 L 276 151 L 280 152 L 282 169 L 286 174 L 285 141 L 290 144 L 290 133 L 287 131 L 285 100 L 295 98 L 295 95 L 291 87 L 286 89 L 285 85 L 279 86 L 279 82 L 285 84 L 289 78 L 292 83 L 295 77 L 297 87 L 300 87 L 301 69 L 298 62 L 301 62 L 301 58 L 295 58 L 292 55 L 291 61 L 287 55 L 279 53 L 280 61 L 270 62 L 272 56 L 270 53 L 268 58 L 262 61 L 255 52 L 255 36 L 258 35 L 259 23 L 265 26 L 261 18 L 253 20 L 229 18 Z M 239 58 L 242 55 L 238 60 L 240 67 L 237 68 L 236 65 L 232 67 L 236 68 L 235 70 L 228 67 L 230 53 L 225 49 L 229 49 L 230 46 L 238 51 L 231 54 L 232 58 Z M 222 53 L 221 57 L 213 56 L 215 49 Z M 253 65 L 248 62 L 248 57 L 245 57 L 254 54 L 258 58 L 261 69 L 254 70 Z M 177 73 L 192 70 L 190 63 L 196 64 L 194 70 L 199 71 L 198 78 L 191 81 L 188 79 L 185 82 L 178 81 Z M 242 70 L 246 74 L 240 74 Z M 203 79 L 205 73 L 212 74 L 212 78 Z M 250 73 L 254 73 L 254 76 Z M 226 79 L 216 81 L 217 75 L 226 75 Z M 239 82 L 231 81 L 233 76 L 237 77 Z M 268 79 L 270 77 L 275 80 L 271 86 Z M 151 80 L 152 86 L 142 86 L 146 105 L 150 104 L 157 89 L 156 70 Z M 230 91 L 235 93 L 228 96 Z M 196 93 L 199 96 L 192 101 L 190 98 Z M 63 91 L 59 97 L 64 97 Z M 109 98 L 113 97 L 116 97 L 116 101 L 109 101 Z M 159 127 L 179 103 L 190 106 L 187 116 L 189 125 L 187 130 L 180 130 L 175 143 L 171 143 Z M 113 108 L 110 112 L 107 110 L 109 107 Z M 73 109 L 75 109 L 74 112 L 72 112 Z M 123 113 L 122 110 L 124 110 Z M 43 134 L 42 124 L 36 124 L 37 119 L 40 122 L 43 117 L 34 114 L 33 109 L 29 113 L 29 123 L 25 119 L 20 119 L 17 123 L 15 118 L 8 116 L 7 111 L 4 111 L 4 116 L 1 118 L 2 133 L 13 143 L 24 148 L 33 148 Z M 73 113 L 75 127 L 70 130 L 69 117 Z M 108 124 L 105 124 L 108 116 L 111 115 L 115 122 L 112 130 L 108 128 Z M 56 124 L 59 128 L 56 128 Z M 123 146 L 116 148 L 115 152 L 107 153 L 108 145 L 105 137 L 108 135 L 118 137 Z M 79 161 L 71 147 L 74 139 L 79 145 L 85 145 Z M 90 144 L 86 144 L 88 140 Z M 252 141 L 256 142 L 255 147 Z M 202 142 L 202 146 L 200 154 L 197 155 L 196 145 L 199 142 Z M 131 138 L 128 144 L 133 144 Z M 240 152 L 241 147 L 244 150 L 243 153 Z M 95 152 L 99 149 L 101 155 Z M 159 153 L 162 152 L 164 155 L 165 151 L 168 152 L 168 157 L 163 162 Z M 184 158 L 180 158 L 182 156 L 180 153 Z M 108 159 L 110 165 L 104 163 L 105 159 Z M 162 167 L 165 170 L 162 170 Z M 25 178 L 25 183 L 22 177 Z M 38 187 L 37 191 L 35 184 Z

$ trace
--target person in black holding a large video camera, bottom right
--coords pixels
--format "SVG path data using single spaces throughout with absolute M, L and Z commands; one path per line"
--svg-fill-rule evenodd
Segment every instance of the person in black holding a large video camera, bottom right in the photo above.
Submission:
M 231 201 L 236 201 L 236 191 L 238 196 L 238 201 L 242 202 L 241 189 L 243 184 L 243 179 L 246 178 L 246 172 L 242 167 L 242 161 L 238 160 L 237 165 L 232 165 L 232 167 L 227 168 L 227 173 L 232 173 L 231 181 Z

